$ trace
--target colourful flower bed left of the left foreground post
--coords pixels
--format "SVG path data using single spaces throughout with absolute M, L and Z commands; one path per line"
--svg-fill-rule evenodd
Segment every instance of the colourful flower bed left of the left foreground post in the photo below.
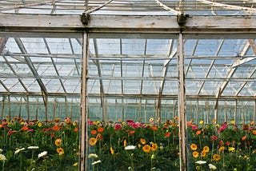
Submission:
M 2 170 L 78 170 L 78 121 L 24 121 L 0 124 Z M 0 164 L 1 164 L 0 163 Z

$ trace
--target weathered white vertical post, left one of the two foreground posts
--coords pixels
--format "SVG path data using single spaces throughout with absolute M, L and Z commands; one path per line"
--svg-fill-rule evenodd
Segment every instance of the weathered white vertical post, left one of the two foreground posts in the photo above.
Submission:
M 83 33 L 82 36 L 82 101 L 81 101 L 81 158 L 80 158 L 80 170 L 86 170 L 86 149 L 88 149 L 87 143 L 87 123 L 88 123 L 88 109 L 87 109 L 87 70 L 88 70 L 88 47 L 89 47 L 89 35 Z

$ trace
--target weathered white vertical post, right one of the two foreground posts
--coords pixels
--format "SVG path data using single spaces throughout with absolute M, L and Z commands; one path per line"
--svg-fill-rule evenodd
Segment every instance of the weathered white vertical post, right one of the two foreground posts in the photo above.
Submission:
M 186 163 L 186 112 L 185 112 L 185 78 L 183 34 L 178 35 L 178 123 L 180 170 L 187 170 Z

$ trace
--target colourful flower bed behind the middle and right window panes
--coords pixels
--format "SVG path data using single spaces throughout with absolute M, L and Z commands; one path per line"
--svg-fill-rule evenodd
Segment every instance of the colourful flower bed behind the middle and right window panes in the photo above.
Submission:
M 179 170 L 178 117 L 161 125 L 89 121 L 89 170 Z M 187 122 L 189 170 L 256 168 L 256 127 Z

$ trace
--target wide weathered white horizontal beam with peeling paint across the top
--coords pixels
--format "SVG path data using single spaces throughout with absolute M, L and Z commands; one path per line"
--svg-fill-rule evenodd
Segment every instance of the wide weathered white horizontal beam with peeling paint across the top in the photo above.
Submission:
M 82 15 L 0 14 L 0 31 L 82 32 L 90 33 L 179 33 L 185 34 L 250 34 L 256 33 L 256 16 L 190 16 L 179 26 L 177 16 L 157 15 L 97 15 L 81 22 Z

